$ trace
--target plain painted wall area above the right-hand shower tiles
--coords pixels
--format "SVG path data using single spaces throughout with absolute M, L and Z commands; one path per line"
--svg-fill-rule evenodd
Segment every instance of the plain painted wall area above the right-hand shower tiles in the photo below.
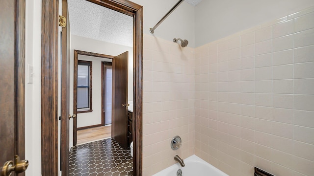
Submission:
M 203 0 L 195 7 L 195 46 L 314 5 L 314 0 Z

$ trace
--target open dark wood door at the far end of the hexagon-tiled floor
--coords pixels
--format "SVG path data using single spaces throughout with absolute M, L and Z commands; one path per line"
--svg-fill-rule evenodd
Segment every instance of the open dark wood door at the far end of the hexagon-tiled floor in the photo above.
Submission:
M 111 137 L 128 148 L 128 55 L 126 51 L 112 59 Z

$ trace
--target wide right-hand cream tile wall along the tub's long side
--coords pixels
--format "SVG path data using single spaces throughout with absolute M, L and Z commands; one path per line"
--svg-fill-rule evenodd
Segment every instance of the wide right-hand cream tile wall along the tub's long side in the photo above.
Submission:
M 314 8 L 201 50 L 218 60 L 195 57 L 195 154 L 230 176 L 314 176 Z

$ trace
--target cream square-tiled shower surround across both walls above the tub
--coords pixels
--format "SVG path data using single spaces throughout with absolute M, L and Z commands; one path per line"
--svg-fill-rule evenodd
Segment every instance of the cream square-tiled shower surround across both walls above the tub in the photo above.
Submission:
M 230 176 L 314 175 L 314 7 L 198 48 L 143 42 L 144 176 L 175 154 Z

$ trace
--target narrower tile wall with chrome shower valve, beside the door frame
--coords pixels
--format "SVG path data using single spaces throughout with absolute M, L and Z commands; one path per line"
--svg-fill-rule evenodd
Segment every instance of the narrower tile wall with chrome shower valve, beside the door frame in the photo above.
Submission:
M 182 158 L 194 154 L 194 80 L 209 81 L 209 50 L 200 48 L 196 63 L 194 48 L 150 35 L 143 40 L 143 176 L 151 176 L 174 164 L 175 154 Z M 224 67 L 228 70 L 228 65 Z M 194 77 L 195 68 L 204 75 Z M 226 75 L 219 78 L 228 81 Z M 175 135 L 183 141 L 177 151 L 170 148 Z

